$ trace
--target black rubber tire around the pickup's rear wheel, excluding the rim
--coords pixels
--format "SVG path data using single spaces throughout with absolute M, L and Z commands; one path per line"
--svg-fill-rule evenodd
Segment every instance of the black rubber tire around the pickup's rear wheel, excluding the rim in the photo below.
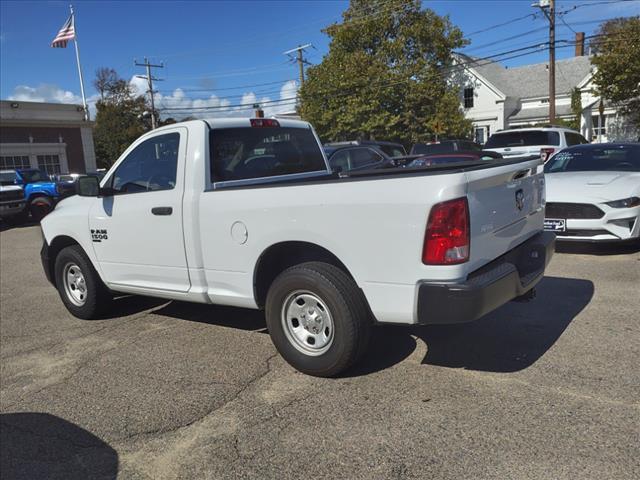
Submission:
M 298 291 L 320 298 L 333 321 L 333 340 L 326 352 L 316 356 L 300 351 L 285 333 L 285 303 Z M 269 288 L 265 311 L 269 334 L 280 355 L 308 375 L 334 377 L 357 363 L 367 350 L 372 328 L 369 307 L 356 283 L 333 265 L 308 262 L 282 272 Z

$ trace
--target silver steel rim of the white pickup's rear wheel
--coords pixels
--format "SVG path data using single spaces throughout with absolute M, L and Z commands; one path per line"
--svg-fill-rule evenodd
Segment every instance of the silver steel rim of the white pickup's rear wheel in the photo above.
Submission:
M 297 290 L 287 296 L 282 327 L 289 343 L 305 355 L 322 355 L 333 343 L 331 312 L 315 293 Z

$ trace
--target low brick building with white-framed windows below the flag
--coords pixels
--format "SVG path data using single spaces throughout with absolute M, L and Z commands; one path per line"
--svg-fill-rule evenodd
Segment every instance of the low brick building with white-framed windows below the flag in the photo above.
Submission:
M 0 101 L 0 169 L 6 168 L 94 171 L 93 122 L 84 120 L 81 105 Z

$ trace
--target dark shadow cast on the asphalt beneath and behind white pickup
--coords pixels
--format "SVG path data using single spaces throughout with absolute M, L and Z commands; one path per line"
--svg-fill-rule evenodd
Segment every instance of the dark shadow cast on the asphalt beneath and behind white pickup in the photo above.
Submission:
M 402 362 L 416 348 L 416 338 L 427 345 L 423 364 L 487 372 L 523 370 L 562 335 L 589 304 L 594 293 L 589 280 L 545 277 L 529 303 L 510 302 L 475 322 L 458 325 L 391 326 L 374 329 L 371 347 L 346 376 L 361 376 Z M 155 306 L 154 315 L 267 333 L 264 312 L 245 308 L 127 296 L 116 300 L 112 317 Z

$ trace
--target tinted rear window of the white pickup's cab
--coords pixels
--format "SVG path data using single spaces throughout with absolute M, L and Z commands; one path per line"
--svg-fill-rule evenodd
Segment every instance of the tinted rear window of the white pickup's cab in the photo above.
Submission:
M 214 182 L 327 170 L 308 128 L 214 129 L 210 145 Z

